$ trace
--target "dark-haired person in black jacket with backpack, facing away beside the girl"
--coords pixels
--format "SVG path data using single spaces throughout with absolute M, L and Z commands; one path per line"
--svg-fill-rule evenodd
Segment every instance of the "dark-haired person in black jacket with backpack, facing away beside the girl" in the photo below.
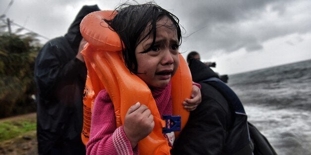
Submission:
M 202 102 L 190 113 L 172 155 L 276 155 L 268 140 L 247 121 L 234 91 L 200 60 L 188 62 L 193 81 L 201 84 Z

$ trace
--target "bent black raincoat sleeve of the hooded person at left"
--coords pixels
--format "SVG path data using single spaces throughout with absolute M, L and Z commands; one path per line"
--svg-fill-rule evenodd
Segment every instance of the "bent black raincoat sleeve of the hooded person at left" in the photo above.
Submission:
M 73 51 L 64 43 L 56 41 L 47 43 L 36 60 L 35 79 L 41 95 L 54 94 L 56 87 L 69 85 L 73 79 L 83 77 L 86 74 L 85 64 L 76 59 Z

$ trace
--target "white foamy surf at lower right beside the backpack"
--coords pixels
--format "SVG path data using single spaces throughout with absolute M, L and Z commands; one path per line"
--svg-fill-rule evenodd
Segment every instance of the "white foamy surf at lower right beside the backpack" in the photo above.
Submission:
M 279 155 L 311 155 L 311 112 L 245 106 L 248 119 Z

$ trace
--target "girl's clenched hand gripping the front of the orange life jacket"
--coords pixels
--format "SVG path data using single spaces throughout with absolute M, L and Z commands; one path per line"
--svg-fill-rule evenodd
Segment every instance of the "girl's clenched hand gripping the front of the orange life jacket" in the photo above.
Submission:
M 140 140 L 151 133 L 154 126 L 155 121 L 151 111 L 146 105 L 141 105 L 137 102 L 127 111 L 123 130 L 130 140 L 132 148 L 135 148 Z

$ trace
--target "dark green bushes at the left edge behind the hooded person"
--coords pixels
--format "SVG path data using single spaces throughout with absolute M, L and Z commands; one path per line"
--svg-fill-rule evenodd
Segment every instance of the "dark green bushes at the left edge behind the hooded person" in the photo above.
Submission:
M 3 30 L 0 28 L 0 117 L 33 112 L 34 63 L 41 44 L 33 33 Z

